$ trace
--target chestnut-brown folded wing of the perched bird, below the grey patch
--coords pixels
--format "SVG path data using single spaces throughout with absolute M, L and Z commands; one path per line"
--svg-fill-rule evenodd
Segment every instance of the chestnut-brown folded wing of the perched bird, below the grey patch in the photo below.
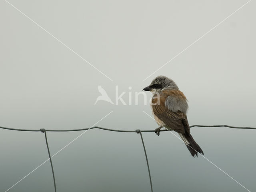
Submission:
M 154 96 L 152 100 L 154 114 L 172 130 L 181 134 L 190 133 L 186 113 L 180 110 L 174 112 L 165 105 L 166 99 L 170 94 L 172 95 L 171 92 L 160 93 L 159 100 L 156 95 Z M 157 102 L 158 104 L 156 104 Z

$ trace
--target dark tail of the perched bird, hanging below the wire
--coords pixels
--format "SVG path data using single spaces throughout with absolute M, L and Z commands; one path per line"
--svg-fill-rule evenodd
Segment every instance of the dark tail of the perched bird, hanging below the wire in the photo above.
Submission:
M 181 134 L 181 133 L 179 133 L 179 134 L 180 134 L 180 137 L 182 138 L 182 140 L 186 144 L 189 152 L 191 153 L 191 155 L 193 157 L 198 156 L 198 152 L 202 155 L 204 154 L 203 150 L 200 148 L 200 146 L 193 139 L 192 135 L 190 135 L 190 134 Z

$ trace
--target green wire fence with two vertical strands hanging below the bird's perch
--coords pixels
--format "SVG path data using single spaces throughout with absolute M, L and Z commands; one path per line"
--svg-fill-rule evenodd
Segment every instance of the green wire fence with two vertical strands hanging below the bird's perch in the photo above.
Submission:
M 229 128 L 235 128 L 235 129 L 256 129 L 255 127 L 238 127 L 238 126 L 229 126 L 229 125 L 192 125 L 190 126 L 190 128 L 192 127 L 229 127 Z M 52 168 L 52 176 L 53 176 L 53 182 L 54 182 L 54 190 L 55 192 L 56 190 L 56 182 L 55 182 L 55 176 L 54 176 L 54 170 L 53 170 L 53 165 L 52 165 L 52 157 L 50 155 L 50 149 L 48 146 L 48 142 L 47 142 L 47 136 L 46 136 L 46 131 L 50 132 L 70 132 L 70 131 L 83 131 L 83 130 L 89 130 L 89 129 L 101 129 L 101 130 L 106 130 L 106 131 L 114 131 L 114 132 L 128 132 L 128 133 L 139 133 L 141 140 L 142 140 L 142 145 L 144 148 L 144 152 L 145 152 L 145 156 L 146 156 L 146 163 L 148 166 L 148 174 L 149 174 L 149 178 L 150 178 L 150 187 L 151 187 L 151 192 L 153 192 L 153 188 L 152 188 L 152 180 L 151 180 L 151 175 L 150 175 L 150 169 L 149 169 L 149 164 L 148 164 L 148 157 L 147 157 L 147 153 L 146 153 L 146 148 L 144 145 L 144 141 L 142 138 L 142 132 L 155 132 L 155 130 L 118 130 L 118 129 L 108 129 L 108 128 L 103 128 L 103 127 L 98 127 L 98 126 L 94 126 L 91 128 L 82 128 L 82 129 L 16 129 L 16 128 L 8 128 L 8 127 L 2 127 L 0 126 L 0 129 L 6 129 L 6 130 L 14 130 L 14 131 L 31 131 L 31 132 L 43 132 L 45 135 L 45 140 L 46 140 L 46 146 L 47 146 L 47 150 L 48 150 L 48 155 L 49 155 L 49 159 L 50 159 L 50 164 L 51 164 L 51 168 Z M 160 130 L 161 132 L 163 131 L 169 131 L 169 130 Z

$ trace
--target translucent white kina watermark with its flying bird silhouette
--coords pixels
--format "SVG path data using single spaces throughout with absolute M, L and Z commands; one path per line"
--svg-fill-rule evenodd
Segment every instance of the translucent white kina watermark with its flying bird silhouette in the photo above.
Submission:
M 128 87 L 129 90 L 132 90 L 132 87 Z M 149 101 L 149 103 L 151 105 L 159 105 L 160 104 L 160 95 L 158 92 L 155 92 L 153 97 L 150 96 L 150 99 L 147 98 L 148 94 L 146 94 L 146 92 L 143 92 L 143 91 L 140 91 L 140 92 L 132 92 L 132 91 L 129 91 L 128 92 L 128 102 L 124 101 L 124 98 L 123 96 L 126 94 L 126 91 L 122 92 L 119 94 L 118 92 L 118 86 L 116 85 L 116 89 L 115 89 L 115 103 L 112 102 L 112 100 L 110 99 L 110 97 L 108 96 L 107 92 L 104 90 L 104 88 L 102 88 L 102 86 L 98 86 L 98 91 L 100 92 L 100 96 L 98 96 L 96 98 L 96 102 L 94 103 L 94 105 L 96 105 L 96 103 L 100 100 L 103 100 L 103 101 L 106 101 L 106 102 L 109 102 L 111 104 L 114 104 L 114 105 L 118 105 L 118 104 L 122 104 L 122 105 L 138 105 L 139 104 L 139 98 L 143 98 L 143 103 L 144 105 L 147 105 L 147 101 Z M 152 103 L 152 100 L 156 98 L 154 100 L 154 103 Z M 135 101 L 135 103 L 134 103 Z

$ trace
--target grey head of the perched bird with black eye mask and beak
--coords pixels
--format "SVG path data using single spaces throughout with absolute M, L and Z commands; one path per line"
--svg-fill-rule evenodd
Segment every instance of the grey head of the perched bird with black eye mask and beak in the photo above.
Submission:
M 150 91 L 150 92 L 160 92 L 164 89 L 173 89 L 173 90 L 178 90 L 178 86 L 176 83 L 171 80 L 170 78 L 166 76 L 157 76 L 152 80 L 149 86 L 145 87 L 143 90 L 144 91 Z

